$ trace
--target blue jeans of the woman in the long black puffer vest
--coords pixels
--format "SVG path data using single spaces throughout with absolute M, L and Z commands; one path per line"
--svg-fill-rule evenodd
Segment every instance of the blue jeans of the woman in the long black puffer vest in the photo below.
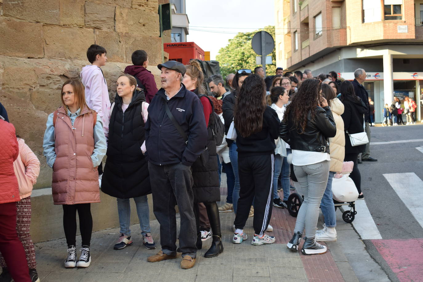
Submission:
M 138 219 L 140 220 L 141 234 L 145 236 L 151 232 L 150 229 L 150 211 L 148 210 L 147 195 L 133 198 L 137 207 Z M 130 199 L 119 199 L 118 200 L 118 214 L 119 214 L 119 225 L 121 225 L 120 233 L 124 233 L 126 236 L 131 235 L 131 205 Z

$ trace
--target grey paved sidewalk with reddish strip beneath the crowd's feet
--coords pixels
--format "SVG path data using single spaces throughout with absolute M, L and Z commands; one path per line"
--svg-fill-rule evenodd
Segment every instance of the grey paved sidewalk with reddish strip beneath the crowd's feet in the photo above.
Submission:
M 222 183 L 225 183 L 223 180 Z M 226 194 L 225 190 L 222 189 L 222 195 Z M 225 198 L 222 196 L 222 203 Z M 175 260 L 147 262 L 148 256 L 160 250 L 159 223 L 153 220 L 150 223 L 151 234 L 157 244 L 155 250 L 148 250 L 143 246 L 139 225 L 131 226 L 134 244 L 121 250 L 114 250 L 113 245 L 119 237 L 119 228 L 113 228 L 93 233 L 92 262 L 88 268 L 64 268 L 67 256 L 64 238 L 36 244 L 37 271 L 42 282 L 358 281 L 338 242 L 331 242 L 327 253 L 323 255 L 306 256 L 300 251 L 292 252 L 286 248 L 296 219 L 288 214 L 287 209 L 273 207 L 270 220 L 273 232 L 268 234 L 274 235 L 276 242 L 270 245 L 251 245 L 254 233 L 253 217 L 248 219 L 244 228 L 248 240 L 242 244 L 233 244 L 234 219 L 235 215 L 232 212 L 220 213 L 224 251 L 218 257 L 205 258 L 203 255 L 209 249 L 211 240 L 203 241 L 203 249 L 197 252 L 197 260 L 192 269 L 180 268 L 180 254 Z M 177 222 L 179 228 L 179 219 Z M 80 242 L 81 238 L 77 236 L 77 245 Z M 301 246 L 302 244 L 299 249 Z M 78 257 L 79 254 L 78 251 Z

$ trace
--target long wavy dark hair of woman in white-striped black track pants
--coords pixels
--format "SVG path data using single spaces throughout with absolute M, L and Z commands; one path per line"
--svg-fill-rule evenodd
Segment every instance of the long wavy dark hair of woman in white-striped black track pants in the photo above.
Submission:
M 261 131 L 263 113 L 266 110 L 266 85 L 263 78 L 257 74 L 246 77 L 238 99 L 236 99 L 233 120 L 236 131 L 242 137 L 248 137 Z

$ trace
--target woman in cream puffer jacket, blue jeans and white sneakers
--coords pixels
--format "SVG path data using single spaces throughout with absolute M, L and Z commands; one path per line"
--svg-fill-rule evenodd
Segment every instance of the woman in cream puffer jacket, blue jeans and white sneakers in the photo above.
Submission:
M 330 168 L 329 178 L 327 179 L 326 189 L 324 190 L 323 197 L 321 198 L 320 208 L 324 216 L 324 227 L 316 231 L 316 241 L 336 241 L 336 214 L 335 205 L 332 197 L 332 179 L 336 172 L 342 171 L 343 159 L 345 156 L 345 136 L 344 124 L 341 115 L 344 112 L 344 105 L 336 98 L 329 85 L 321 85 L 321 95 L 328 102 L 328 106 L 332 111 L 333 120 L 336 124 L 335 137 L 329 138 L 330 149 Z

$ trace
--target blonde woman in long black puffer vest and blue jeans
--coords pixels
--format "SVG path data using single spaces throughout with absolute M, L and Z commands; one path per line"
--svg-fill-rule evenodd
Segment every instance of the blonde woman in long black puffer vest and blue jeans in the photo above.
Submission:
M 113 249 L 132 245 L 131 206 L 133 198 L 140 220 L 143 244 L 156 249 L 151 236 L 147 194 L 151 193 L 148 164 L 141 150 L 145 140 L 144 126 L 148 103 L 137 80 L 130 74 L 121 75 L 116 82 L 115 101 L 110 109 L 107 160 L 104 165 L 102 191 L 116 197 L 120 236 Z

